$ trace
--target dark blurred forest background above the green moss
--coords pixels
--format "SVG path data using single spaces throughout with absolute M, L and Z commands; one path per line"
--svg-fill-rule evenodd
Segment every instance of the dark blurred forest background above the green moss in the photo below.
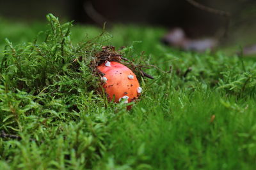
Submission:
M 247 45 L 255 38 L 255 7 L 255 0 L 1 0 L 0 17 L 45 22 L 45 15 L 53 13 L 75 24 L 102 27 L 106 22 L 107 28 L 113 24 L 150 25 L 170 31 L 179 27 L 190 39 L 225 37 L 225 41 L 233 42 L 235 37 Z

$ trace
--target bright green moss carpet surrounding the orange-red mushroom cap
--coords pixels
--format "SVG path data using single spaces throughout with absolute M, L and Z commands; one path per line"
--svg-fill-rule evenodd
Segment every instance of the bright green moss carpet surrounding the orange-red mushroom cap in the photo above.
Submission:
M 254 59 L 161 45 L 159 27 L 47 20 L 1 22 L 0 169 L 254 169 Z M 131 111 L 95 92 L 102 45 L 162 70 L 145 69 Z

